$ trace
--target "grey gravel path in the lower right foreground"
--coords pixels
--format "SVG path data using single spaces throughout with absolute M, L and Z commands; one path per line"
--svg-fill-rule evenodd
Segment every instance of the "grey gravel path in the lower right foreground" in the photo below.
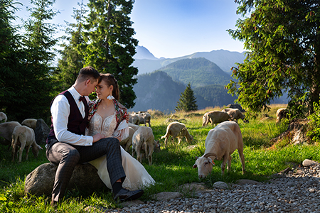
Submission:
M 284 173 L 269 183 L 234 184 L 230 190 L 199 192 L 196 198 L 129 204 L 103 212 L 320 212 L 320 164 Z

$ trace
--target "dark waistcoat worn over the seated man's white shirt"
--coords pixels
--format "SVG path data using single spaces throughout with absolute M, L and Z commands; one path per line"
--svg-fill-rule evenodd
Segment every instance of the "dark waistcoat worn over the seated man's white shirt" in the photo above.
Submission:
M 70 114 L 69 114 L 68 124 L 67 124 L 68 131 L 78 135 L 85 135 L 85 127 L 87 126 L 87 116 L 89 114 L 89 107 L 87 106 L 87 100 L 84 99 L 83 101 L 83 104 L 85 104 L 85 118 L 82 118 L 82 115 L 80 113 L 80 110 L 78 109 L 77 103 L 75 103 L 75 99 L 73 98 L 73 95 L 68 90 L 61 92 L 60 94 L 63 94 L 68 99 L 68 102 L 70 105 Z M 53 103 L 53 100 L 50 104 L 50 107 Z M 51 123 L 52 123 L 52 117 L 51 117 Z M 50 126 L 50 132 L 48 134 L 47 143 L 50 143 L 50 140 L 52 139 L 57 140 L 57 138 L 55 138 L 55 131 L 53 129 L 53 124 L 51 124 Z

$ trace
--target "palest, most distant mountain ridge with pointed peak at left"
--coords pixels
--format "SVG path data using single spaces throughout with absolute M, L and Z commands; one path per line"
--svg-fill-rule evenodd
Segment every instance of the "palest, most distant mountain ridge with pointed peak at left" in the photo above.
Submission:
M 186 58 L 206 58 L 214 62 L 221 70 L 230 73 L 231 67 L 235 66 L 236 62 L 245 60 L 245 53 L 230 52 L 228 50 L 213 50 L 211 52 L 198 52 L 191 55 L 185 55 L 178 58 L 155 58 L 149 50 L 144 47 L 137 47 L 137 54 L 134 55 L 133 66 L 138 67 L 138 75 L 143 73 L 154 72 L 161 67 L 165 67 L 172 62 Z M 152 57 L 152 56 L 153 57 Z

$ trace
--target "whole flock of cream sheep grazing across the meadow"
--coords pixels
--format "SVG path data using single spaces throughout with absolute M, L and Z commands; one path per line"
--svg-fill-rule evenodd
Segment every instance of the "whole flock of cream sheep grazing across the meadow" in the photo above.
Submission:
M 242 114 L 241 109 L 235 104 L 234 108 L 223 109 L 222 111 L 209 111 L 203 115 L 203 124 L 206 126 L 209 122 L 215 128 L 208 132 L 206 137 L 206 151 L 201 157 L 197 157 L 193 168 L 198 168 L 199 178 L 205 178 L 212 170 L 214 160 L 223 160 L 221 164 L 222 174 L 225 171 L 225 164 L 228 170 L 231 166 L 231 154 L 237 149 L 242 163 L 242 173 L 245 173 L 245 157 L 243 155 L 243 142 L 238 119 L 248 122 Z M 277 111 L 277 122 L 287 116 L 287 109 L 279 109 Z M 12 146 L 12 160 L 16 153 L 19 153 L 18 162 L 21 162 L 23 149 L 26 148 L 26 160 L 28 160 L 28 151 L 32 148 L 33 155 L 38 156 L 41 146 L 38 146 L 35 139 L 34 130 L 36 129 L 36 119 L 26 119 L 21 124 L 16 121 L 6 121 L 6 114 L 0 112 L 0 141 L 4 145 Z M 142 162 L 144 156 L 148 159 L 149 165 L 152 164 L 152 153 L 160 151 L 159 141 L 154 140 L 154 134 L 151 129 L 151 115 L 146 111 L 132 113 L 129 116 L 129 137 L 120 141 L 120 145 L 127 152 L 132 147 L 132 156 L 137 153 L 137 160 Z M 193 136 L 188 132 L 185 124 L 178 120 L 171 119 L 171 122 L 166 129 L 166 134 L 161 136 L 165 138 L 165 148 L 167 141 L 171 136 L 171 141 L 178 138 L 178 143 L 182 138 L 190 143 L 193 141 Z M 139 126 L 144 124 L 144 126 Z M 149 126 L 146 126 L 149 124 Z M 1 138 L 2 137 L 2 138 Z M 4 140 L 3 140 L 4 139 Z

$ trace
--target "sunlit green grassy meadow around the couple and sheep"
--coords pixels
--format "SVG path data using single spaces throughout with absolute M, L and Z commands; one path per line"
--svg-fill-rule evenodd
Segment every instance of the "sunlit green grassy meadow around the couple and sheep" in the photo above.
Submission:
M 179 186 L 190 182 L 203 182 L 208 187 L 212 187 L 216 181 L 237 182 L 240 179 L 250 179 L 257 181 L 268 181 L 270 175 L 279 173 L 281 170 L 295 164 L 301 164 L 306 158 L 320 161 L 320 146 L 299 145 L 294 146 L 289 140 L 272 144 L 272 138 L 279 136 L 287 129 L 287 122 L 275 124 L 276 111 L 284 105 L 271 105 L 271 111 L 257 114 L 256 119 L 251 119 L 249 123 L 239 121 L 244 141 L 244 155 L 246 173 L 242 175 L 240 158 L 238 151 L 233 153 L 231 171 L 225 170 L 225 175 L 221 175 L 220 164 L 222 161 L 215 161 L 213 171 L 207 178 L 199 180 L 198 170 L 193 169 L 196 156 L 203 155 L 205 151 L 205 141 L 208 131 L 213 128 L 210 124 L 202 127 L 202 116 L 206 111 L 221 110 L 222 108 L 207 108 L 191 113 L 177 113 L 175 119 L 186 119 L 189 133 L 194 138 L 191 144 L 188 144 L 183 138 L 180 145 L 177 139 L 174 143 L 168 141 L 167 148 L 164 148 L 164 136 L 168 119 L 171 115 L 161 114 L 159 111 L 149 111 L 151 114 L 151 128 L 154 132 L 154 138 L 160 140 L 161 152 L 153 154 L 153 165 L 149 165 L 145 159 L 144 167 L 149 174 L 156 180 L 156 185 L 144 189 L 144 195 L 141 200 L 144 202 L 151 200 L 151 195 L 158 192 L 181 192 Z M 267 119 L 266 119 L 267 118 Z M 193 145 L 193 146 L 191 146 Z M 43 147 L 44 148 L 44 147 Z M 24 155 L 26 152 L 23 152 Z M 0 146 L 0 212 L 85 212 L 85 207 L 120 207 L 118 203 L 112 200 L 112 193 L 105 187 L 94 195 L 85 195 L 84 192 L 76 190 L 68 191 L 65 200 L 61 202 L 57 209 L 50 207 L 50 197 L 25 197 L 23 185 L 26 175 L 42 163 L 48 163 L 45 151 L 39 153 L 38 159 L 35 159 L 32 153 L 29 153 L 29 160 L 26 161 L 23 156 L 22 163 L 11 162 L 11 150 L 5 146 Z M 89 181 L 89 180 L 88 180 Z M 186 197 L 195 197 L 192 192 L 186 194 Z

